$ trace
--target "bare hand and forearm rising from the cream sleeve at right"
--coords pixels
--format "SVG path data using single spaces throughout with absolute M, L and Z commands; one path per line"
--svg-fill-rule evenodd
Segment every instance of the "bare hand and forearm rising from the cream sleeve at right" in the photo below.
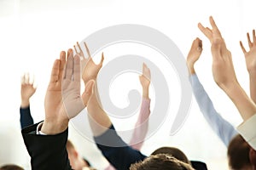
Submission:
M 240 112 L 244 121 L 256 113 L 256 105 L 248 98 L 236 79 L 232 56 L 226 48 L 223 37 L 212 17 L 210 17 L 212 29 L 199 23 L 199 29 L 212 43 L 212 75 L 215 82 L 230 97 Z

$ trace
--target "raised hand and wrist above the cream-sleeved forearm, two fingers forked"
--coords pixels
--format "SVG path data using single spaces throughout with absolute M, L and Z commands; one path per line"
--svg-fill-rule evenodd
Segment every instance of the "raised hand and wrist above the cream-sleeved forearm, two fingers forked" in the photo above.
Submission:
M 224 38 L 212 17 L 210 17 L 210 23 L 212 29 L 202 26 L 201 23 L 198 24 L 198 27 L 212 43 L 212 75 L 214 81 L 220 88 L 228 90 L 234 83 L 238 83 L 231 53 L 226 48 Z

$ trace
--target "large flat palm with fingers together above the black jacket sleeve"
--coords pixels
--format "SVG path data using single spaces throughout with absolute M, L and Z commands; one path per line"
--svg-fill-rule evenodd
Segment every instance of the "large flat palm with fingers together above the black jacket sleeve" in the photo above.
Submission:
M 67 51 L 67 63 L 64 51 L 61 52 L 60 59 L 55 60 L 44 99 L 44 108 L 45 121 L 41 131 L 46 134 L 64 132 L 69 119 L 84 109 L 80 95 L 80 59 L 79 55 L 73 57 L 73 49 Z

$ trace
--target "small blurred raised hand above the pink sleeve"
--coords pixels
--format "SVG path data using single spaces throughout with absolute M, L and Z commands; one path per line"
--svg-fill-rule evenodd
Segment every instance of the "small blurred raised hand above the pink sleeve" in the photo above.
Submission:
M 139 77 L 143 87 L 143 98 L 148 99 L 148 89 L 150 85 L 151 74 L 148 66 L 143 63 L 143 75 Z

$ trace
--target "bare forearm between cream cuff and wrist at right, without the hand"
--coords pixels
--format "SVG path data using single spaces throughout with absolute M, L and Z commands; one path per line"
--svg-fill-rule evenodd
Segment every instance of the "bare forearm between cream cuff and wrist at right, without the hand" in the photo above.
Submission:
M 247 121 L 247 119 L 256 114 L 256 105 L 253 103 L 253 100 L 247 96 L 238 82 L 230 85 L 229 88 L 226 87 L 223 89 L 236 105 L 244 121 Z

